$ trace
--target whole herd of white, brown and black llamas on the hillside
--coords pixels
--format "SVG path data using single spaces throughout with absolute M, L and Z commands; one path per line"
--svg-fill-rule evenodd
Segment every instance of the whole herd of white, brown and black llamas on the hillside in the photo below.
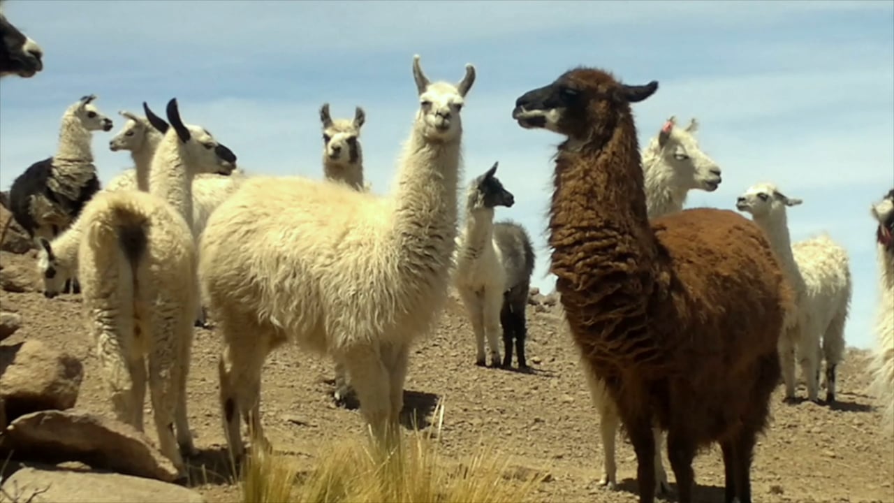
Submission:
M 0 30 L 0 75 L 43 70 L 42 49 L 2 13 Z M 182 120 L 176 99 L 165 118 L 145 102 L 145 115 L 120 112 L 109 149 L 129 151 L 134 166 L 102 188 L 91 140 L 113 121 L 95 95 L 64 111 L 55 154 L 13 182 L 11 220 L 38 246 L 44 293 L 80 292 L 114 413 L 142 431 L 148 386 L 160 450 L 181 472 L 195 450 L 186 382 L 206 312 L 223 338 L 220 405 L 236 459 L 245 454 L 240 419 L 253 442 L 269 446 L 261 371 L 290 343 L 333 360 L 334 399 L 356 395 L 375 439 L 392 446 L 409 348 L 438 320 L 451 287 L 468 311 L 476 363 L 510 367 L 514 352 L 528 370 L 535 252 L 523 226 L 494 222 L 514 196 L 494 163 L 458 197 L 460 112 L 476 69 L 467 64 L 457 83 L 430 81 L 417 55 L 412 75 L 419 107 L 385 196 L 364 181 L 361 107 L 352 119 L 320 108 L 316 180 L 246 174 L 211 132 Z M 819 400 L 824 377 L 826 402 L 835 401 L 853 288 L 848 254 L 827 234 L 791 243 L 787 211 L 801 200 L 772 183 L 738 197 L 750 218 L 683 209 L 687 192 L 718 188 L 721 168 L 700 149 L 695 119 L 684 126 L 671 116 L 640 151 L 630 104 L 656 90 L 657 81 L 628 85 L 578 67 L 524 93 L 511 115 L 522 128 L 566 137 L 555 155 L 550 263 L 601 416 L 601 483 L 617 482 L 623 424 L 641 502 L 670 490 L 666 441 L 679 501 L 692 499 L 696 453 L 717 442 L 725 500 L 746 503 L 770 396 L 781 381 L 786 399 L 795 397 L 796 360 L 807 397 Z M 871 213 L 881 270 L 873 390 L 890 431 L 894 189 Z

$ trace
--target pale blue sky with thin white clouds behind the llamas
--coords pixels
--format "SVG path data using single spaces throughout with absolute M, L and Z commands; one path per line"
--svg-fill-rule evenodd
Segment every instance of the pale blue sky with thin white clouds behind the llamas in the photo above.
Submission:
M 629 83 L 660 81 L 635 107 L 640 142 L 669 115 L 700 123 L 723 169 L 687 207 L 734 209 L 759 181 L 803 205 L 793 240 L 828 231 L 850 253 L 855 292 L 848 345 L 874 345 L 878 304 L 869 205 L 894 185 L 894 2 L 105 2 L 11 0 L 4 11 L 44 48 L 46 70 L 0 86 L 0 187 L 53 153 L 59 118 L 85 94 L 122 125 L 119 109 L 181 114 L 229 145 L 251 173 L 322 176 L 317 110 L 367 112 L 362 138 L 374 191 L 392 182 L 417 107 L 410 64 L 433 80 L 477 81 L 463 109 L 464 179 L 500 161 L 546 274 L 550 156 L 560 138 L 519 128 L 520 94 L 578 64 Z M 94 137 L 100 177 L 131 166 Z

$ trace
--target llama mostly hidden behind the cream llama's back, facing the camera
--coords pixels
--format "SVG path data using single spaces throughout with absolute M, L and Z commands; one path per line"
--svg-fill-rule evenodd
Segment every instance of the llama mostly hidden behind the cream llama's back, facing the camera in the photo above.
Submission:
M 368 183 L 363 181 L 363 148 L 360 145 L 360 128 L 367 122 L 363 108 L 354 108 L 354 118 L 335 119 L 329 115 L 329 104 L 320 107 L 320 122 L 323 124 L 323 174 L 327 180 L 347 183 L 361 192 L 369 192 Z M 350 383 L 344 365 L 335 363 L 336 405 L 348 406 L 356 394 Z

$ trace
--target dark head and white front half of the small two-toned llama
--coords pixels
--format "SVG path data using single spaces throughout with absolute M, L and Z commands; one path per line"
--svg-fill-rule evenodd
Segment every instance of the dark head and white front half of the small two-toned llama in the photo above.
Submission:
M 493 367 L 502 365 L 498 342 L 501 338 L 500 312 L 503 294 L 508 289 L 502 252 L 493 242 L 493 212 L 497 206 L 511 208 L 515 204 L 512 194 L 494 176 L 497 165 L 493 163 L 484 175 L 468 184 L 466 226 L 457 238 L 453 273 L 453 284 L 466 306 L 475 332 L 475 362 L 482 366 L 487 363 L 486 337 Z

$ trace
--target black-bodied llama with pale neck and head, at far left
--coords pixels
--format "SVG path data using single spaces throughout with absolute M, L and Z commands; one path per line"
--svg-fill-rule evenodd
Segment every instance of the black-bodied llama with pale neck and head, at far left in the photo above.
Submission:
M 112 119 L 93 103 L 96 95 L 80 98 L 65 110 L 55 156 L 40 160 L 19 175 L 10 187 L 9 209 L 35 243 L 53 239 L 78 217 L 84 204 L 99 191 L 97 166 L 90 141 L 94 131 L 110 131 Z M 77 294 L 75 278 L 65 278 Z

